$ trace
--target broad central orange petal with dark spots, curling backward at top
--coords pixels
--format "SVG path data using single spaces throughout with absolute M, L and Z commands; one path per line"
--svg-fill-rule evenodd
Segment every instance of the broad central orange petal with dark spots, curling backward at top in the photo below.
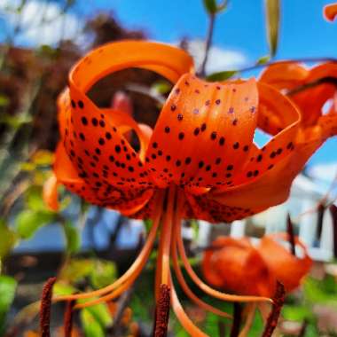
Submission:
M 146 153 L 155 183 L 174 182 L 194 193 L 231 185 L 252 147 L 257 104 L 254 80 L 221 84 L 184 75 L 162 108 Z

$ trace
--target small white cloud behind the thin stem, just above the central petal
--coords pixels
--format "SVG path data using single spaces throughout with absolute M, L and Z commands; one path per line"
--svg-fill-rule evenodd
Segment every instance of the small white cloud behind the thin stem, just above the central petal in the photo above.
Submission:
M 205 55 L 205 43 L 201 40 L 189 41 L 189 52 L 195 60 L 196 68 L 201 65 Z M 223 70 L 233 70 L 247 64 L 247 57 L 241 51 L 212 46 L 208 53 L 206 73 L 212 74 Z

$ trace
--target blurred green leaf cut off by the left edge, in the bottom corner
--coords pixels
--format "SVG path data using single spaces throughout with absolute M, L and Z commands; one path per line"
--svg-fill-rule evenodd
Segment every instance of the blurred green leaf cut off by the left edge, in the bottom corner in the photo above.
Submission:
M 5 319 L 15 296 L 17 281 L 9 276 L 0 276 L 0 336 L 4 333 Z

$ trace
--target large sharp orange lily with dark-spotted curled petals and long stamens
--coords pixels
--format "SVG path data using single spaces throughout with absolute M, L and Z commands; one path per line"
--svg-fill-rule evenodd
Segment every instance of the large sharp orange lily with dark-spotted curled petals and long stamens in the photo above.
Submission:
M 98 108 L 86 95 L 100 78 L 128 67 L 152 70 L 175 84 L 153 132 L 121 110 Z M 55 301 L 100 296 L 77 304 L 82 308 L 118 297 L 144 268 L 160 224 L 156 295 L 161 285 L 169 286 L 173 310 L 193 336 L 205 333 L 193 325 L 176 296 L 171 258 L 179 284 L 204 309 L 226 316 L 192 293 L 182 276 L 179 256 L 189 276 L 207 294 L 227 301 L 268 300 L 223 294 L 202 282 L 184 252 L 182 219 L 231 222 L 286 200 L 310 155 L 337 134 L 336 115 L 323 116 L 303 128 L 292 101 L 266 83 L 254 79 L 210 83 L 192 73 L 192 59 L 184 51 L 139 41 L 106 44 L 74 66 L 69 88 L 59 98 L 61 141 L 45 199 L 56 209 L 57 185 L 64 184 L 92 204 L 150 218 L 153 226 L 136 261 L 113 285 Z M 263 148 L 253 142 L 257 128 L 273 136 Z M 139 152 L 123 136 L 130 129 L 139 138 Z

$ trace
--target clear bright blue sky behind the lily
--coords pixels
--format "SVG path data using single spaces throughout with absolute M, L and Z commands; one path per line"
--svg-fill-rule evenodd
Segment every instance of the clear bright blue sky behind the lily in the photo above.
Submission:
M 1 0 L 0 3 L 2 1 L 15 2 Z M 328 23 L 322 16 L 324 5 L 332 1 L 282 1 L 276 59 L 337 58 L 337 22 Z M 230 0 L 229 3 L 228 10 L 216 20 L 214 44 L 222 50 L 244 55 L 247 66 L 254 64 L 256 59 L 268 53 L 264 1 Z M 114 12 L 124 27 L 142 29 L 151 39 L 167 43 L 176 43 L 182 37 L 202 39 L 208 28 L 208 17 L 201 0 L 82 0 L 77 1 L 72 14 L 82 22 L 83 16 L 90 17 L 98 11 Z M 72 21 L 67 26 L 70 31 Z M 42 35 L 42 32 L 38 34 Z M 337 162 L 336 153 L 337 139 L 334 138 L 313 156 L 310 164 Z

